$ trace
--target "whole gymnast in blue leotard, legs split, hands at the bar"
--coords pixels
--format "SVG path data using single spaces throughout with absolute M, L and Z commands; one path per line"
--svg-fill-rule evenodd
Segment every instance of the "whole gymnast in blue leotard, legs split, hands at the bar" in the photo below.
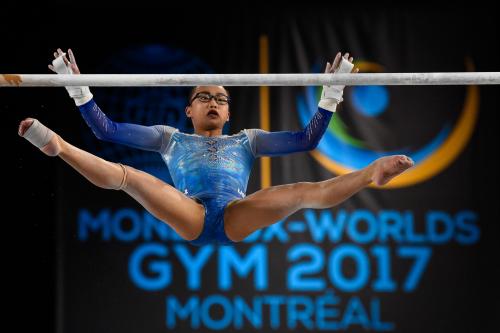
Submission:
M 80 74 L 74 54 L 61 49 L 49 68 L 58 74 Z M 339 52 L 325 73 L 357 73 L 353 58 Z M 175 187 L 121 163 L 79 149 L 33 118 L 21 121 L 18 134 L 48 156 L 59 156 L 92 184 L 123 190 L 193 245 L 233 244 L 303 208 L 331 208 L 371 183 L 384 185 L 413 166 L 405 155 L 381 157 L 349 174 L 319 182 L 272 186 L 246 196 L 252 163 L 261 156 L 280 156 L 314 149 L 320 141 L 344 86 L 323 86 L 318 110 L 302 131 L 244 129 L 222 135 L 231 99 L 222 86 L 198 86 L 189 94 L 185 113 L 194 133 L 166 126 L 142 126 L 109 119 L 93 100 L 89 87 L 66 87 L 98 139 L 160 153 Z

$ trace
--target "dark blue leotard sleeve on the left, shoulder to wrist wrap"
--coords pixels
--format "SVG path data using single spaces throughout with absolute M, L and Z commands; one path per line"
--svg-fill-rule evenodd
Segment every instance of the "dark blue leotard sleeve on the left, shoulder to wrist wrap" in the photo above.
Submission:
M 93 99 L 78 108 L 98 139 L 133 148 L 159 152 L 166 147 L 170 135 L 176 131 L 170 126 L 142 126 L 114 122 L 101 111 Z

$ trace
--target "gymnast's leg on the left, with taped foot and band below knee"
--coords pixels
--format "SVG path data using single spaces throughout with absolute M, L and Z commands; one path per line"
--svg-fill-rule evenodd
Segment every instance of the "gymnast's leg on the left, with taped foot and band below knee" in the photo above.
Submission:
M 106 161 L 64 141 L 36 119 L 19 125 L 19 135 L 49 156 L 59 156 L 92 184 L 123 190 L 182 238 L 196 239 L 203 230 L 205 208 L 160 179 L 122 164 Z

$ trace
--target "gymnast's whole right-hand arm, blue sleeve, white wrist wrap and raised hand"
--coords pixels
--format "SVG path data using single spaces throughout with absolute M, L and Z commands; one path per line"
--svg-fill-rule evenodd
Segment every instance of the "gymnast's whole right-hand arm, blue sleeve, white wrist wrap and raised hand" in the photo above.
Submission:
M 353 69 L 353 58 L 349 53 L 343 57 L 337 54 L 332 64 L 327 63 L 325 73 L 357 73 Z M 248 129 L 246 133 L 250 140 L 255 157 L 280 156 L 290 153 L 309 151 L 318 145 L 328 128 L 330 119 L 342 102 L 344 86 L 323 86 L 318 111 L 302 131 L 267 132 L 261 129 Z

